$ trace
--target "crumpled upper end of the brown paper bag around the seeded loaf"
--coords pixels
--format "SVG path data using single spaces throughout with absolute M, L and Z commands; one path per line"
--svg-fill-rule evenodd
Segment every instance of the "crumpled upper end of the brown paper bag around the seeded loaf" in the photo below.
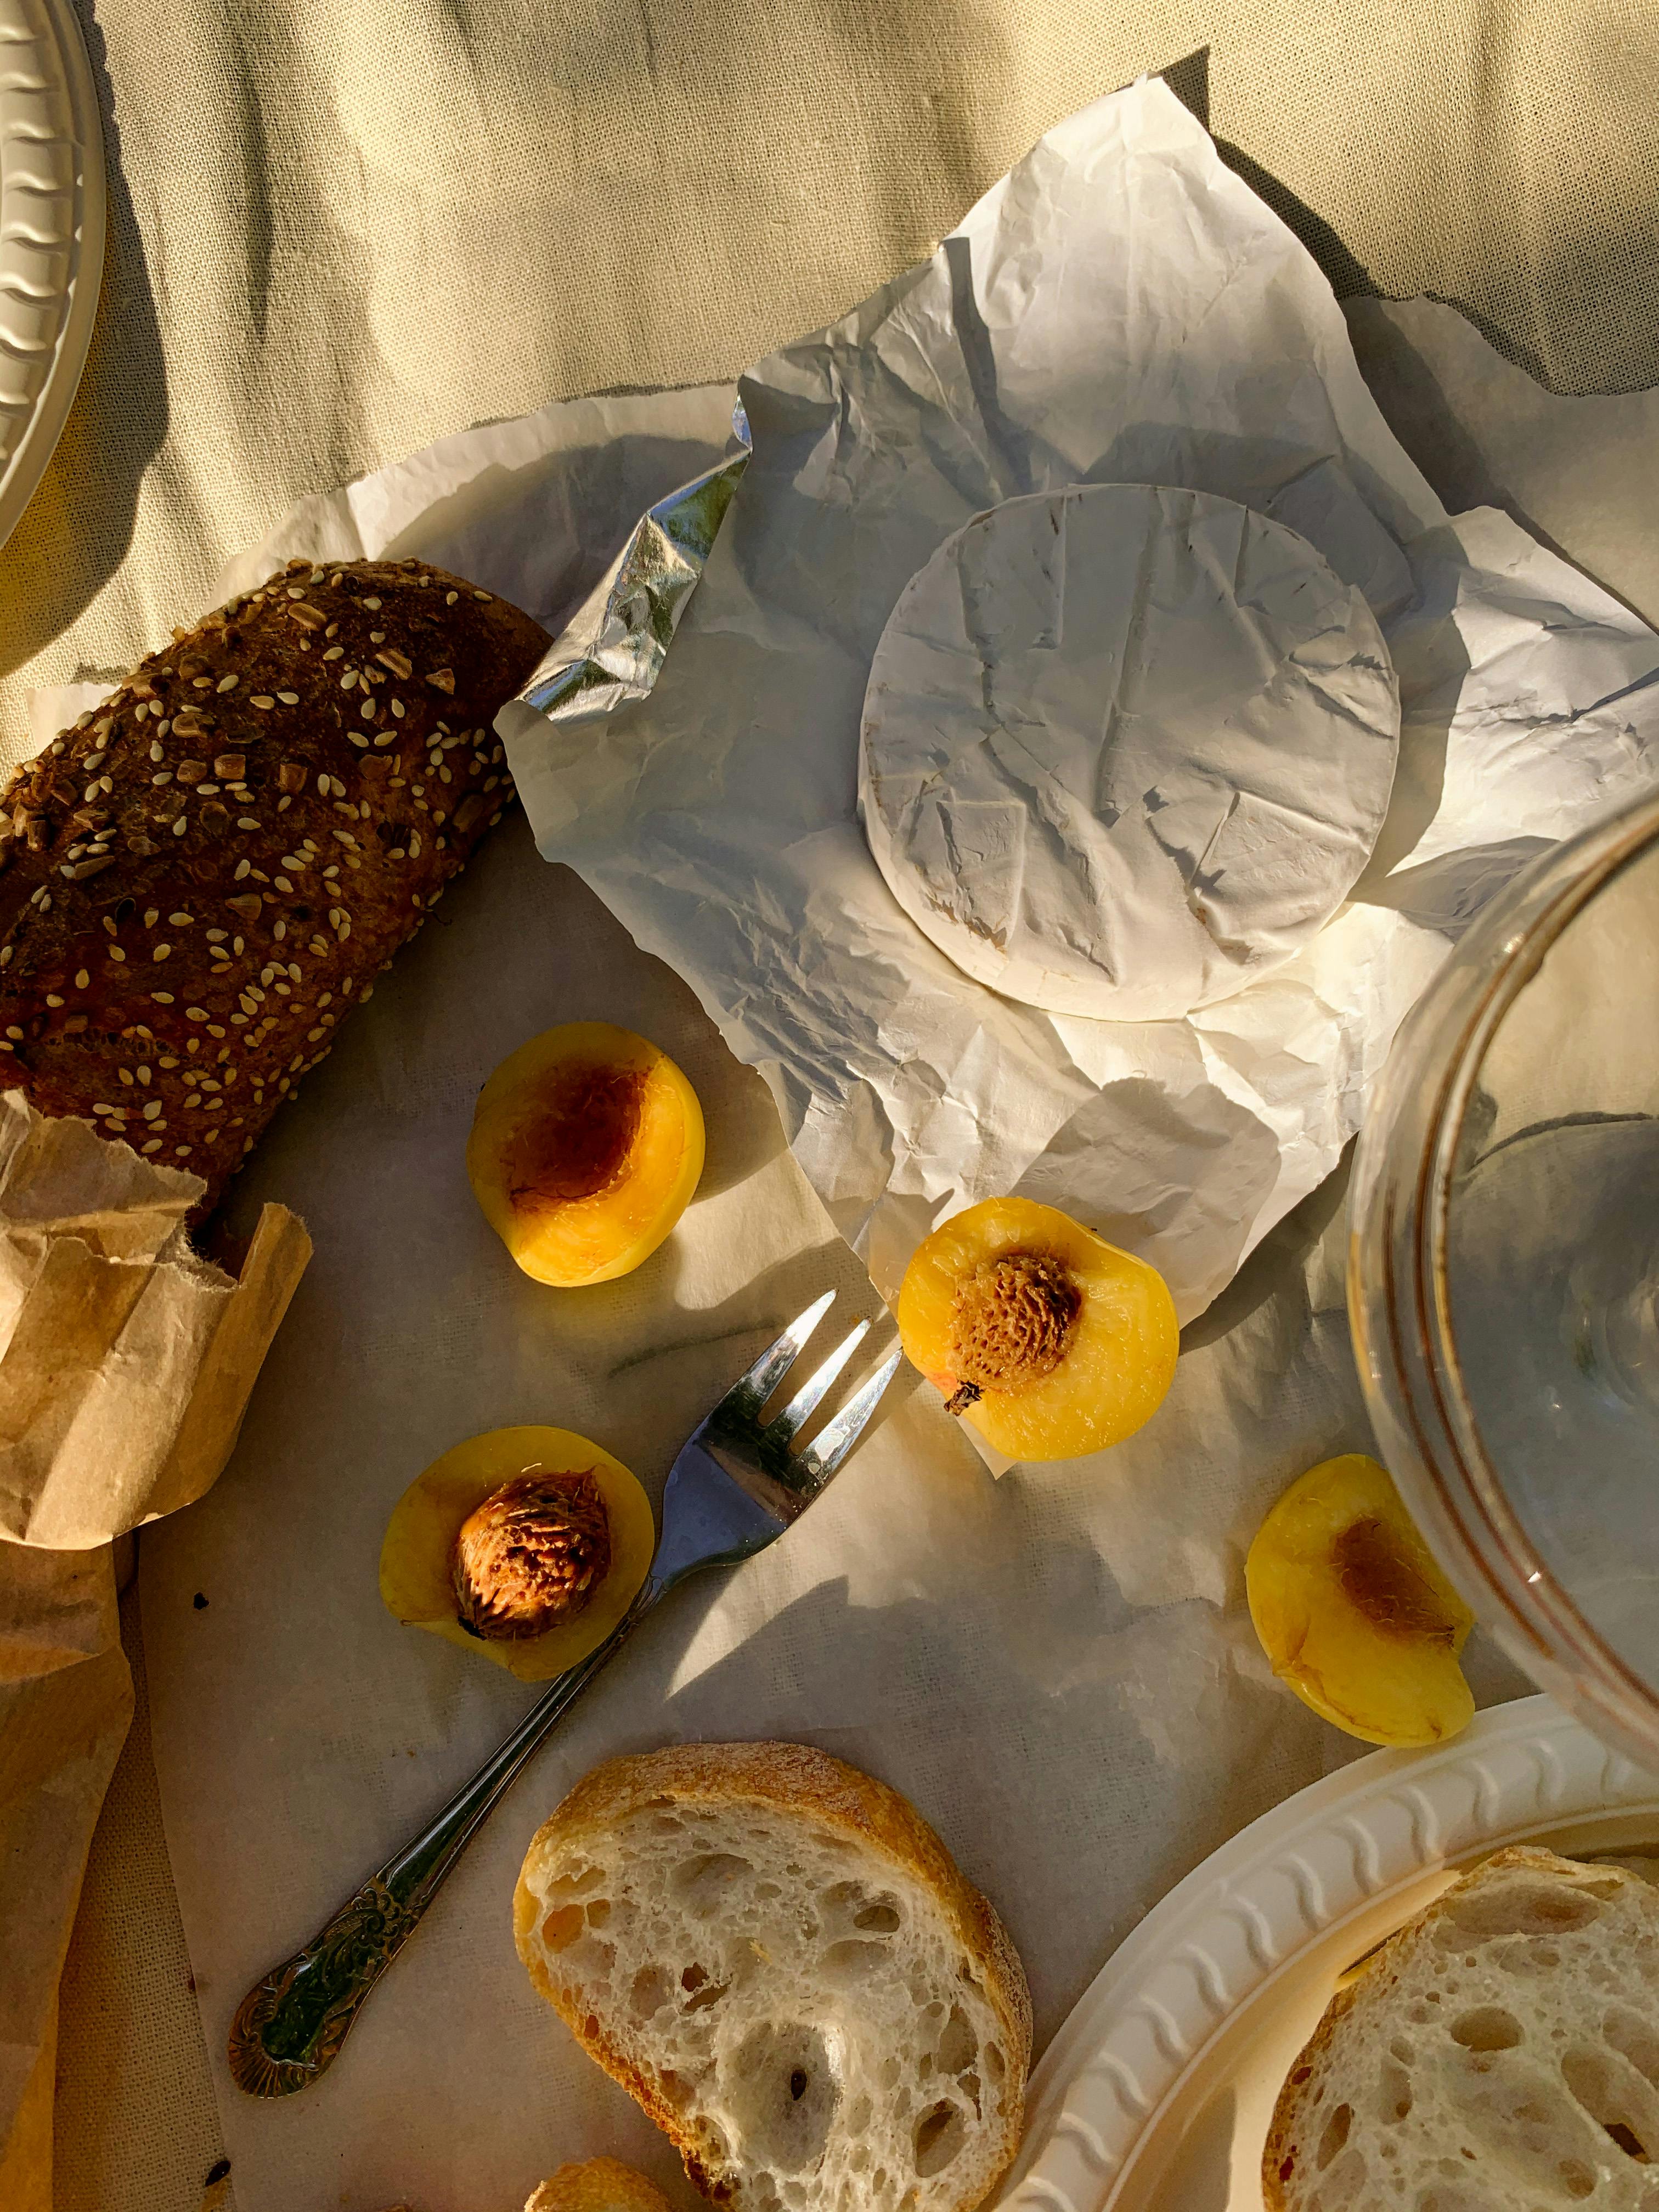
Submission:
M 201 1190 L 0 1097 L 0 1537 L 108 1544 L 223 1467 L 312 1243 L 268 1206 L 232 1281 L 190 1250 Z

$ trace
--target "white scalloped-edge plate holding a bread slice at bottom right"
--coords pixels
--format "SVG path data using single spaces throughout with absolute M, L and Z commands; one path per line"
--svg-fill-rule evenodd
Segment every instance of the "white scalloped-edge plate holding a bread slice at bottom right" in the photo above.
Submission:
M 1031 2079 L 1000 2212 L 1261 2212 L 1261 2146 L 1338 1975 L 1506 1843 L 1652 1851 L 1659 1778 L 1548 1697 L 1376 1752 L 1214 1851 L 1099 1971 Z

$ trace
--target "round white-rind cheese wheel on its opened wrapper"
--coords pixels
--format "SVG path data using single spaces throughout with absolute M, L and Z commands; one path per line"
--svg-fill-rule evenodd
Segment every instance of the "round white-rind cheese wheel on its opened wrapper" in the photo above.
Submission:
M 905 586 L 858 810 L 978 982 L 1144 1022 L 1305 945 L 1365 867 L 1400 743 L 1387 646 L 1294 531 L 1166 484 L 975 515 Z

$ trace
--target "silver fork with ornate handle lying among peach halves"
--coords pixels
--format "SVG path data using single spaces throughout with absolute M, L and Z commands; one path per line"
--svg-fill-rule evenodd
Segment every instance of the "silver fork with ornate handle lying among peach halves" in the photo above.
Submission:
M 239 2088 L 252 2097 L 288 2097 L 332 2066 L 369 1991 L 414 1933 L 445 1876 L 606 1659 L 688 1575 L 765 1551 L 825 1491 L 900 1360 L 898 1352 L 885 1358 L 805 1451 L 794 1451 L 794 1438 L 869 1329 L 860 1321 L 783 1411 L 763 1425 L 768 1398 L 805 1352 L 834 1296 L 827 1290 L 814 1298 L 686 1438 L 668 1471 L 650 1573 L 606 1641 L 549 1683 L 438 1818 L 378 1867 L 301 1951 L 248 1991 L 230 2024 L 230 2077 Z

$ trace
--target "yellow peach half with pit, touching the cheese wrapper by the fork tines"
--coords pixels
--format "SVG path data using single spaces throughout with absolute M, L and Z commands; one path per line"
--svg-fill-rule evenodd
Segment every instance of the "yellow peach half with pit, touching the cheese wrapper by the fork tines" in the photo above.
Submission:
M 1181 1332 L 1157 1267 L 1055 1206 L 984 1199 L 916 1248 L 898 1292 L 914 1367 L 1011 1460 L 1133 1436 L 1175 1380 Z

